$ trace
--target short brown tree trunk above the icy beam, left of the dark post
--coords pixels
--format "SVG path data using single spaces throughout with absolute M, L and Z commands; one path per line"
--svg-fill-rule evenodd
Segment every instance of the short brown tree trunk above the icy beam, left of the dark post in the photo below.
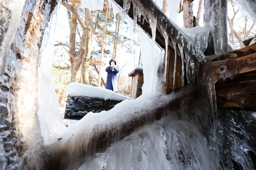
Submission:
M 193 0 L 184 0 L 183 1 L 183 21 L 184 28 L 194 27 L 194 15 L 193 15 Z

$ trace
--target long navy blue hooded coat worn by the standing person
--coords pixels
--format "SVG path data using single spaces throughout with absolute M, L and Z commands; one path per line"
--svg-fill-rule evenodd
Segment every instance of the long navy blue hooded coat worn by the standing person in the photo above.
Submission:
M 111 61 L 114 61 L 116 64 L 115 59 L 111 59 L 110 62 Z M 110 62 L 109 62 L 109 64 L 110 64 Z M 117 76 L 116 76 L 116 74 L 119 72 L 118 68 L 116 67 L 116 68 L 114 68 L 114 71 L 112 71 L 112 67 L 108 66 L 106 68 L 106 72 L 108 72 L 106 89 L 112 90 L 112 88 L 113 88 L 113 91 L 117 92 Z

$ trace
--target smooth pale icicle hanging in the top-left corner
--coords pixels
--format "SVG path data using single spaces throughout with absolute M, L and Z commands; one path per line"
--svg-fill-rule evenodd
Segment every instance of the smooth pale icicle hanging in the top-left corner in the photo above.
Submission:
M 12 45 L 12 41 L 17 31 L 18 24 L 20 23 L 20 17 L 22 14 L 24 3 L 25 3 L 25 0 L 1 0 L 0 1 L 0 6 L 3 5 L 4 7 L 12 11 L 12 16 L 8 23 L 9 26 L 8 26 L 7 32 L 4 34 L 2 44 L 0 44 L 0 76 L 2 76 L 3 74 L 7 54 Z M 0 16 L 1 18 L 4 18 L 2 15 Z

